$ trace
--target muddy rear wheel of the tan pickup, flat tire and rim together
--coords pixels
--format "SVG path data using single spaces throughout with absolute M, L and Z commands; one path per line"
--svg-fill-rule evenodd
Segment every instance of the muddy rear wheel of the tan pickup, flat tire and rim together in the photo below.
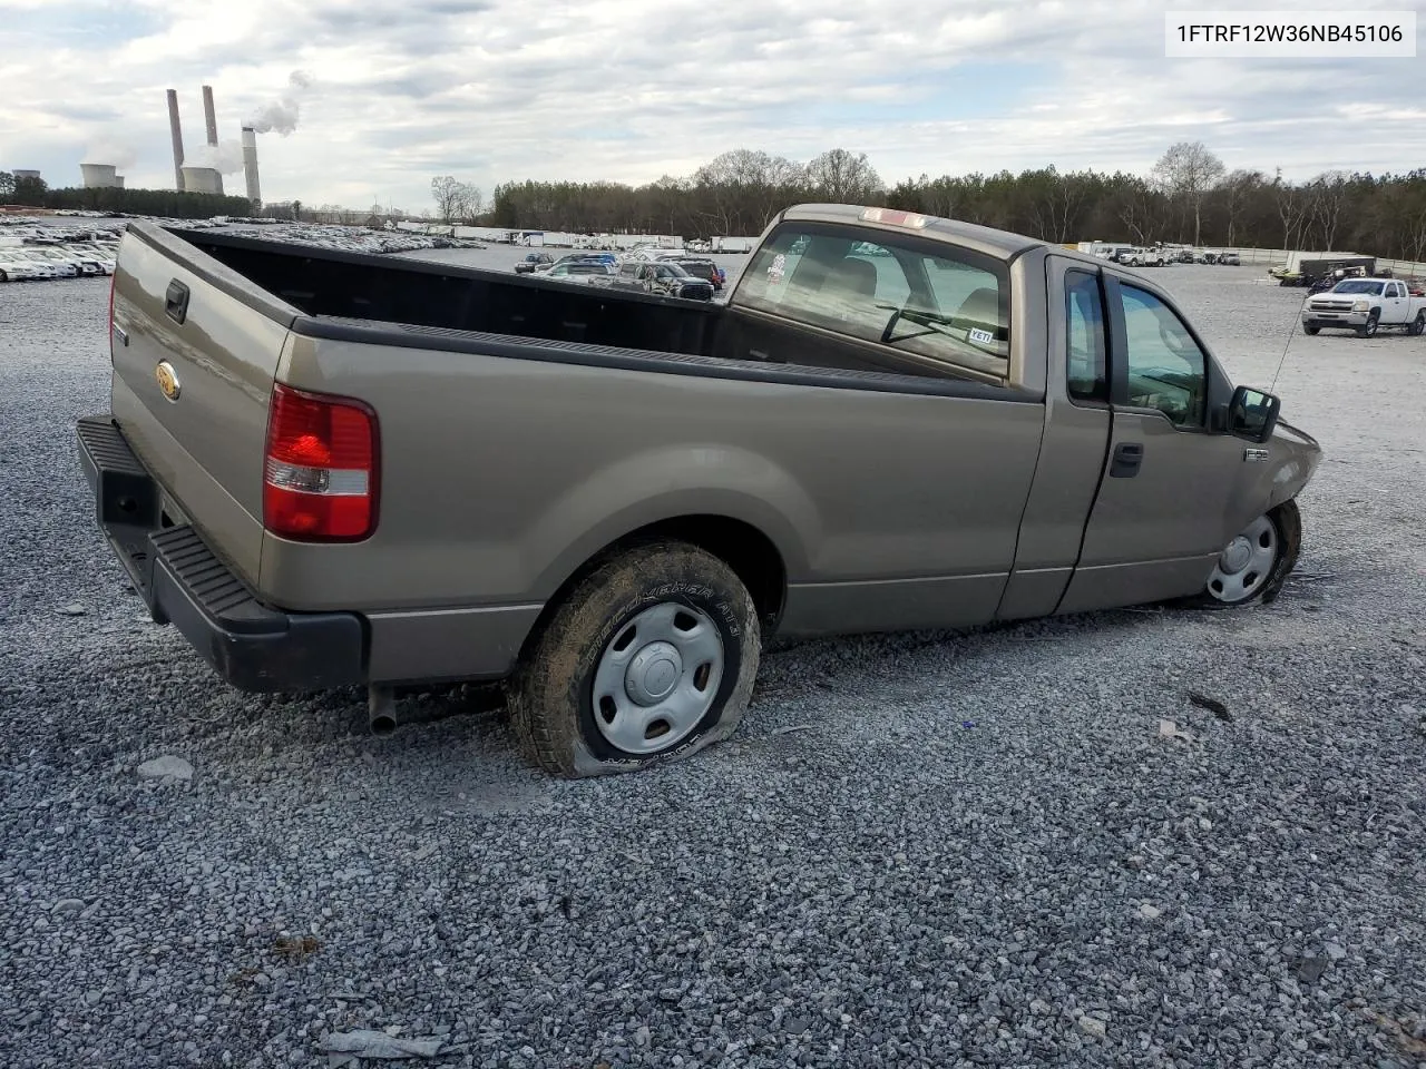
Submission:
M 679 760 L 733 734 L 760 656 L 757 609 L 723 560 L 683 542 L 635 546 L 580 580 L 532 639 L 511 723 L 555 775 Z

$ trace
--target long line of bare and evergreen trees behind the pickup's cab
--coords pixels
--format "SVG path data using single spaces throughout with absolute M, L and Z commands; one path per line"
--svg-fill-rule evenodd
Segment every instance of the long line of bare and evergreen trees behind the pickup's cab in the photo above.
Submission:
M 1426 168 L 1383 175 L 1325 171 L 1293 182 L 1281 168 L 1229 172 L 1196 141 L 1172 145 L 1148 174 L 1048 165 L 1018 174 L 923 174 L 890 187 L 864 153 L 834 148 L 799 164 L 740 148 L 692 175 L 646 185 L 505 182 L 495 187 L 479 221 L 512 229 L 707 238 L 759 234 L 779 211 L 807 201 L 904 208 L 1055 242 L 1353 249 L 1426 259 Z

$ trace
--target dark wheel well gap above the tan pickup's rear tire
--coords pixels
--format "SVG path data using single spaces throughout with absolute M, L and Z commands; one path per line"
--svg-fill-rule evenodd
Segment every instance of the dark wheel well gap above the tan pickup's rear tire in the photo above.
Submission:
M 560 583 L 559 590 L 545 603 L 545 609 L 540 610 L 539 619 L 535 620 L 535 626 L 530 627 L 529 636 L 525 639 L 525 646 L 528 647 L 543 630 L 545 623 L 565 600 L 565 596 L 599 564 L 626 549 L 662 539 L 687 542 L 723 560 L 747 587 L 747 593 L 757 607 L 763 634 L 773 633 L 787 594 L 787 567 L 771 539 L 752 523 L 729 516 L 674 516 L 629 532 L 575 569 L 573 574 Z

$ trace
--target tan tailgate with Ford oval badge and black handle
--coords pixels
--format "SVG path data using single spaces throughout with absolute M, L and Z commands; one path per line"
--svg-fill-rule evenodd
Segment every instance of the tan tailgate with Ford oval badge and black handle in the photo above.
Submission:
M 173 522 L 197 527 L 250 586 L 262 552 L 268 401 L 297 314 L 153 224 L 124 235 L 110 331 L 114 419 L 161 483 Z

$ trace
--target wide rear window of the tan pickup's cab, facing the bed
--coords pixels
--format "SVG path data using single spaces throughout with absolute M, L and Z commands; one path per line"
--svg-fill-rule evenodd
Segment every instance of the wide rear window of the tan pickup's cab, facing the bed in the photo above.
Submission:
M 1008 268 L 933 238 L 787 224 L 753 257 L 737 304 L 923 363 L 1010 371 Z

